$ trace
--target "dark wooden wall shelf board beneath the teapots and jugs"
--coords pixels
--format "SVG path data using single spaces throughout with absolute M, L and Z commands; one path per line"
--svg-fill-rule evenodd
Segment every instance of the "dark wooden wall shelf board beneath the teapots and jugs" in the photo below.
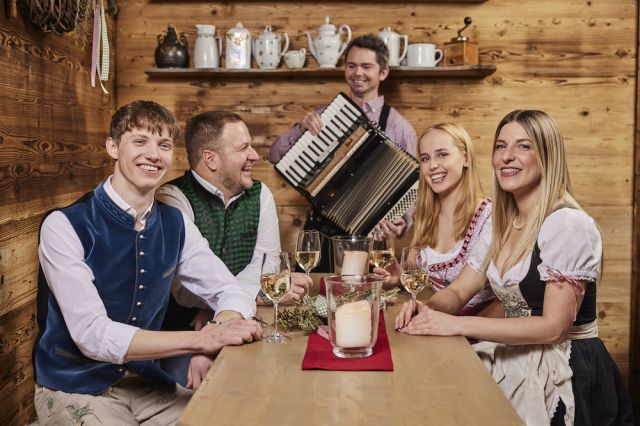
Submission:
M 343 68 L 277 68 L 263 70 L 251 68 L 235 70 L 226 68 L 147 68 L 144 72 L 151 78 L 246 78 L 246 77 L 289 77 L 289 78 L 342 78 Z M 496 72 L 495 65 L 472 65 L 455 67 L 392 67 L 389 78 L 484 78 Z

